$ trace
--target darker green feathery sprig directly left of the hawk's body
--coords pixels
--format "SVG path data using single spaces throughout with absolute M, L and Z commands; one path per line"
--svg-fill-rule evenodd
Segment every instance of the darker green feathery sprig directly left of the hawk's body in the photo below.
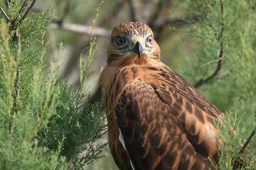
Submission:
M 90 104 L 88 97 L 81 94 L 81 89 L 67 85 L 61 81 L 54 89 L 60 103 L 56 107 L 56 115 L 38 133 L 38 145 L 57 150 L 58 141 L 64 138 L 60 154 L 72 164 L 70 169 L 82 169 L 99 159 L 102 147 L 106 145 L 95 144 L 106 132 L 105 117 L 100 117 L 103 103 Z

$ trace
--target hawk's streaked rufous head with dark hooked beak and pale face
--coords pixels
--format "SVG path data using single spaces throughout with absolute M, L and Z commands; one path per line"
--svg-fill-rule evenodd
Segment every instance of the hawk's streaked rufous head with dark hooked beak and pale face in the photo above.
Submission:
M 160 49 L 148 25 L 125 22 L 116 25 L 108 46 L 108 64 L 147 64 L 160 58 Z

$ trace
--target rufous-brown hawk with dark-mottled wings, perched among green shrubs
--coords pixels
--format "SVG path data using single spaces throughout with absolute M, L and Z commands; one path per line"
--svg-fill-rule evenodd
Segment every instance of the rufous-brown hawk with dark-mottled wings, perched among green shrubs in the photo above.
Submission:
M 214 104 L 160 60 L 148 25 L 116 25 L 100 76 L 108 139 L 119 169 L 218 169 Z

